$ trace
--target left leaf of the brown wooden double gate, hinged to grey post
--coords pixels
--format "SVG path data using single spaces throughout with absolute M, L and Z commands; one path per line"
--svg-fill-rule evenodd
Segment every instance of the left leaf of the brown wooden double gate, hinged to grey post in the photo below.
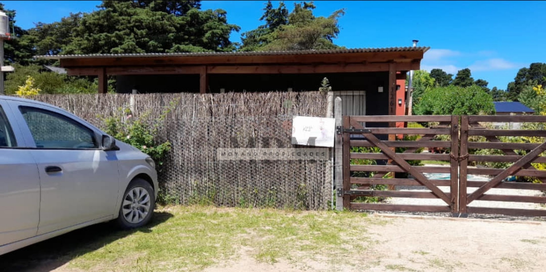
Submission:
M 429 128 L 396 128 L 393 122 L 431 122 Z M 390 124 L 389 124 L 390 123 Z M 458 211 L 458 116 L 343 116 L 336 128 L 343 143 L 343 182 L 337 196 L 343 207 L 362 210 Z M 394 139 L 395 135 L 423 135 L 419 139 Z M 355 138 L 354 135 L 363 137 Z M 443 140 L 435 137 L 443 135 Z M 390 139 L 388 139 L 390 138 Z M 421 153 L 444 150 L 446 153 Z M 417 152 L 417 153 L 416 153 Z M 406 160 L 446 161 L 447 166 L 423 167 Z M 364 163 L 362 163 L 364 162 Z M 449 173 L 450 179 L 430 179 L 423 173 Z M 375 190 L 388 186 L 389 190 Z M 397 191 L 397 186 L 424 186 L 428 192 Z M 447 186 L 442 191 L 438 186 Z M 455 193 L 451 193 L 455 192 Z M 438 205 L 366 203 L 375 198 L 436 198 Z

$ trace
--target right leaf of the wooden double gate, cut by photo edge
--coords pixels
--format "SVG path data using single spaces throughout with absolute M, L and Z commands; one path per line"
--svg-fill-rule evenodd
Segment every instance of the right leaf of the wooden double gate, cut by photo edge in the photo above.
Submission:
M 479 122 L 482 122 L 481 124 Z M 533 184 L 527 182 L 507 182 L 509 176 L 526 176 L 546 181 L 546 171 L 536 169 L 531 163 L 546 163 L 542 153 L 546 150 L 546 130 L 541 129 L 494 129 L 483 122 L 526 122 L 546 123 L 546 116 L 489 116 L 472 115 L 461 117 L 461 155 L 476 152 L 480 149 L 500 150 L 504 155 L 468 155 L 460 164 L 459 210 L 461 213 L 503 214 L 511 216 L 546 216 L 546 210 L 537 205 L 536 209 L 485 208 L 471 205 L 475 200 L 510 203 L 546 203 L 543 193 L 536 196 L 527 194 L 491 194 L 492 188 L 507 188 L 515 190 L 546 191 L 546 183 Z M 535 126 L 537 127 L 537 126 Z M 538 126 L 540 127 L 540 126 Z M 472 138 L 469 138 L 472 137 Z M 487 141 L 479 140 L 483 137 Z M 526 137 L 531 143 L 510 143 L 506 138 L 498 137 Z M 482 139 L 483 139 L 482 138 Z M 510 139 L 510 138 L 508 138 Z M 503 141 L 505 140 L 505 141 Z M 524 155 L 521 155 L 523 152 Z M 476 163 L 508 163 L 507 168 L 470 168 L 468 162 Z M 490 164 L 486 164 L 490 165 Z M 498 165 L 498 164 L 495 164 Z M 489 175 L 489 181 L 468 181 L 467 174 Z M 477 190 L 468 191 L 468 187 L 477 187 Z M 510 190 L 511 191 L 511 190 Z M 470 205 L 470 206 L 469 206 Z M 517 206 L 517 205 L 516 205 Z

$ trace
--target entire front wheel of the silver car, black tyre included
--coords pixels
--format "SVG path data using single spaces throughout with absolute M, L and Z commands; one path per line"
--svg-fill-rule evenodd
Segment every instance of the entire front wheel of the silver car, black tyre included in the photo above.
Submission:
M 155 206 L 156 198 L 152 186 L 143 179 L 132 180 L 123 193 L 117 226 L 122 229 L 144 226 L 151 220 Z

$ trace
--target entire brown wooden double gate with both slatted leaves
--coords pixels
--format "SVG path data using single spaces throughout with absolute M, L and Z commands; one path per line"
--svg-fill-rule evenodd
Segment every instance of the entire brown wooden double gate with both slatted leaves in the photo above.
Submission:
M 545 194 L 487 193 L 492 188 L 546 192 L 546 157 L 541 156 L 546 150 L 546 116 L 343 116 L 336 122 L 336 161 L 342 161 L 336 172 L 338 207 L 342 202 L 343 208 L 358 210 L 546 216 L 544 207 L 493 208 L 498 205 L 473 203 L 546 203 Z M 394 122 L 428 124 L 398 128 Z M 537 125 L 491 129 L 492 122 Z M 405 137 L 395 139 L 396 135 Z M 424 167 L 416 165 L 418 161 L 440 165 Z M 507 181 L 515 176 L 544 183 Z M 403 186 L 423 190 L 408 191 Z M 370 198 L 391 201 L 370 203 Z M 392 200 L 396 198 L 415 200 L 400 204 Z M 418 205 L 418 199 L 437 201 Z

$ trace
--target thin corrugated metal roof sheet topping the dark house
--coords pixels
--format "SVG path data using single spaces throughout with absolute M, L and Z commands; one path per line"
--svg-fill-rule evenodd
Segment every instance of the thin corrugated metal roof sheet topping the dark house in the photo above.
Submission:
M 144 53 L 144 54 L 90 54 L 90 55 L 44 55 L 34 56 L 46 59 L 67 58 L 111 58 L 111 57 L 188 57 L 188 56 L 265 56 L 265 55 L 313 55 L 313 54 L 343 54 L 365 52 L 426 52 L 430 47 L 391 47 L 391 48 L 353 48 L 353 49 L 321 49 L 300 51 L 254 51 L 254 52 L 186 52 L 186 53 Z

